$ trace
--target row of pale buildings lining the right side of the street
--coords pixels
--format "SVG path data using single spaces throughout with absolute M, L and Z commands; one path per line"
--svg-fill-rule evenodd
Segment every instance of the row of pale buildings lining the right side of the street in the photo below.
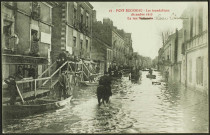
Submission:
M 194 3 L 181 15 L 183 27 L 163 40 L 158 68 L 169 79 L 208 93 L 208 6 Z

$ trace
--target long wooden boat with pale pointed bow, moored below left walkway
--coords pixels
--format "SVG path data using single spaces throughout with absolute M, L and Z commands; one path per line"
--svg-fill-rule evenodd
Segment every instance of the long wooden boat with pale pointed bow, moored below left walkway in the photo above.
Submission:
M 15 105 L 3 104 L 3 116 L 7 118 L 17 118 L 22 116 L 29 116 L 49 110 L 55 110 L 65 107 L 70 103 L 72 96 L 64 100 L 52 100 L 47 98 L 40 98 L 24 103 L 17 102 Z

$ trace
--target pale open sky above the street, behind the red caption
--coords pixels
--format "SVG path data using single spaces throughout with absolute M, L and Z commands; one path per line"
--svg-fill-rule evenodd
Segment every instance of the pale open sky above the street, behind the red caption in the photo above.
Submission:
M 162 47 L 162 32 L 175 32 L 176 28 L 182 28 L 181 19 L 169 19 L 176 15 L 180 17 L 190 2 L 90 2 L 96 10 L 97 21 L 110 18 L 114 26 L 124 29 L 132 34 L 133 49 L 140 55 L 154 59 L 158 56 L 158 50 Z M 121 9 L 121 10 L 120 10 Z M 124 9 L 124 11 L 123 11 Z M 126 12 L 126 9 L 142 9 L 142 12 Z M 152 10 L 164 9 L 168 12 L 152 12 Z M 112 12 L 111 12 L 112 10 Z M 147 11 L 146 11 L 147 10 Z M 149 12 L 150 10 L 150 12 Z M 121 11 L 121 12 L 120 12 Z M 140 11 L 140 10 L 138 10 Z M 152 13 L 152 17 L 165 17 L 164 20 L 128 20 L 132 13 Z M 146 16 L 142 16 L 146 17 Z

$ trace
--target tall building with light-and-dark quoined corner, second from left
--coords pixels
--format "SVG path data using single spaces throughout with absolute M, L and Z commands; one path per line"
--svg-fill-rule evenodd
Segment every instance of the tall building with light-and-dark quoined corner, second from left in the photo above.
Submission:
M 90 60 L 93 6 L 89 2 L 59 2 L 53 8 L 52 57 L 62 50 Z

